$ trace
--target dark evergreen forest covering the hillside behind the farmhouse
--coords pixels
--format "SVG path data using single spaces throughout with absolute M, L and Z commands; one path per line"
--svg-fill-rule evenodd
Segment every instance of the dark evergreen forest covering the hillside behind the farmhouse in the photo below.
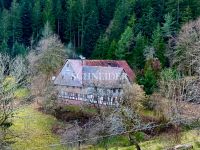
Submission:
M 168 66 L 168 41 L 200 15 L 199 0 L 0 0 L 0 51 L 26 55 L 48 22 L 62 42 L 92 59 L 145 67 L 145 51 Z

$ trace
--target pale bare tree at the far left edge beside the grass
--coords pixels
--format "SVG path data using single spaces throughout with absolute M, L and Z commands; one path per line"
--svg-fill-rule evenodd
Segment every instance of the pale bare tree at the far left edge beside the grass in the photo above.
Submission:
M 11 59 L 0 54 L 0 144 L 5 130 L 12 126 L 14 109 L 20 105 L 15 101 L 15 92 L 25 85 L 28 70 L 21 57 Z

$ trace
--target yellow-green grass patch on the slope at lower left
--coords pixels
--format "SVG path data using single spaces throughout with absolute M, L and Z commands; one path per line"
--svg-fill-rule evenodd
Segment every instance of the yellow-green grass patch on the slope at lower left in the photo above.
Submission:
M 59 137 L 51 132 L 56 119 L 35 110 L 32 106 L 21 108 L 16 112 L 14 125 L 11 130 L 14 135 L 19 135 L 12 144 L 14 150 L 29 150 L 43 147 L 49 144 L 59 143 Z M 51 149 L 43 147 L 39 149 Z M 56 149 L 62 149 L 57 147 Z

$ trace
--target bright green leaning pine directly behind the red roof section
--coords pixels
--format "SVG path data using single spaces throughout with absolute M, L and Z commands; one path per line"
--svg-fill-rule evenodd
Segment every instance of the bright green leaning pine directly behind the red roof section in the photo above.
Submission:
M 118 48 L 115 51 L 115 56 L 117 59 L 124 59 L 129 48 L 131 42 L 133 40 L 133 31 L 131 27 L 127 27 L 124 33 L 121 35 L 121 39 L 118 42 Z

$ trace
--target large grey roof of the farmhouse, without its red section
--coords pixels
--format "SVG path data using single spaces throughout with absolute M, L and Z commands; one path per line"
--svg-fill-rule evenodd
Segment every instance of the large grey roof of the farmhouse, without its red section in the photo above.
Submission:
M 125 73 L 121 66 L 89 66 L 84 60 L 67 60 L 54 84 L 62 86 L 119 87 Z

